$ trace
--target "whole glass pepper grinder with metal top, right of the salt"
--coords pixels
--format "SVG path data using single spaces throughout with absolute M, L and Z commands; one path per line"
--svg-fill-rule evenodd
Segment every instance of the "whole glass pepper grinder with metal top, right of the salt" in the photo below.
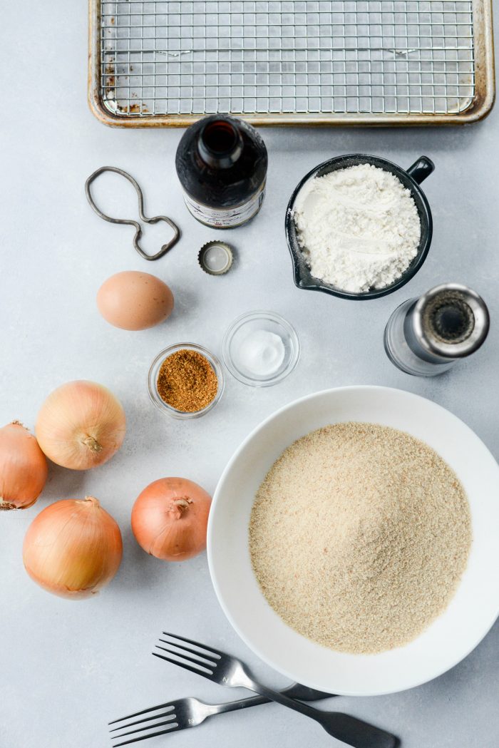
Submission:
M 385 351 L 402 372 L 435 376 L 477 351 L 488 332 L 483 298 L 468 286 L 443 283 L 397 307 L 385 328 Z

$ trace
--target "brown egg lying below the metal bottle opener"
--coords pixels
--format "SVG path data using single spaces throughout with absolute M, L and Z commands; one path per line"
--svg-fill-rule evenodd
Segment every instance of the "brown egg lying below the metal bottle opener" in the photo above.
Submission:
M 174 295 L 155 275 L 126 270 L 102 283 L 97 292 L 97 307 L 114 327 L 145 330 L 170 316 Z

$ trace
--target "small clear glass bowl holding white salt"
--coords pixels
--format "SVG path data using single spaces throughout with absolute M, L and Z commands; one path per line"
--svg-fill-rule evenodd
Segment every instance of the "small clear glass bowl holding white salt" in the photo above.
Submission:
M 227 369 L 243 384 L 270 387 L 296 367 L 300 343 L 284 317 L 257 310 L 233 321 L 224 335 L 222 354 Z

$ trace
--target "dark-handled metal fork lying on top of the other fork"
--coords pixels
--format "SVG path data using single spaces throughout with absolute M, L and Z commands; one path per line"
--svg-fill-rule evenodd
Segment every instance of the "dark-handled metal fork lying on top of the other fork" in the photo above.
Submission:
M 160 639 L 160 642 L 167 646 L 156 645 L 156 649 L 167 652 L 171 656 L 167 657 L 165 654 L 153 652 L 162 660 L 195 672 L 196 675 L 203 675 L 209 681 L 228 687 L 249 688 L 260 693 L 260 696 L 266 696 L 267 699 L 299 711 L 305 717 L 310 717 L 318 722 L 328 732 L 328 735 L 355 748 L 395 748 L 399 744 L 394 735 L 362 722 L 356 717 L 350 717 L 349 714 L 320 711 L 302 702 L 294 701 L 286 693 L 267 688 L 255 680 L 245 663 L 236 657 L 231 657 L 230 654 L 224 654 L 218 649 L 177 634 L 169 634 L 168 631 L 163 631 L 163 634 L 169 638 Z

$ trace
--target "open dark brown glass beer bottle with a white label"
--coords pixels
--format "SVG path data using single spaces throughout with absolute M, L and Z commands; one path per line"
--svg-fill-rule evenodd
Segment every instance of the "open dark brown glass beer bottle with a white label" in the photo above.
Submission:
M 203 117 L 184 132 L 176 167 L 186 206 L 201 223 L 233 228 L 260 210 L 267 150 L 248 123 L 225 114 Z

